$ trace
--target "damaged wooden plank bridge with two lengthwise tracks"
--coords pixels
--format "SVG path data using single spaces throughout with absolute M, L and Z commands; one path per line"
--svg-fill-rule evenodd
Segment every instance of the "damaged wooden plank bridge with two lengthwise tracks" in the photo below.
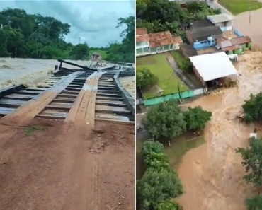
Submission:
M 121 86 L 118 74 L 60 65 L 59 71 L 42 81 L 41 86 L 0 90 L 1 121 L 41 117 L 91 126 L 95 121 L 134 124 L 135 100 Z

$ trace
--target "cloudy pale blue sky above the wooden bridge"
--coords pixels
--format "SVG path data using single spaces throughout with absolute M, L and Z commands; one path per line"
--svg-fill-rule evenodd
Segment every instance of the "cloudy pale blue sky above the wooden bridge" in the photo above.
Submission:
M 115 28 L 118 18 L 135 16 L 135 0 L 0 0 L 0 10 L 23 8 L 27 13 L 53 16 L 71 25 L 65 41 L 87 42 L 91 47 L 103 47 L 120 42 L 124 28 Z

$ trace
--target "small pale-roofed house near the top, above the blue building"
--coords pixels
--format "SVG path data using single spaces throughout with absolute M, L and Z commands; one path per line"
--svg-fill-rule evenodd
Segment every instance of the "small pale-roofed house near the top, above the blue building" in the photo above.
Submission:
M 207 19 L 215 25 L 219 26 L 223 32 L 226 30 L 233 30 L 234 17 L 227 13 L 222 13 L 215 16 L 207 16 Z

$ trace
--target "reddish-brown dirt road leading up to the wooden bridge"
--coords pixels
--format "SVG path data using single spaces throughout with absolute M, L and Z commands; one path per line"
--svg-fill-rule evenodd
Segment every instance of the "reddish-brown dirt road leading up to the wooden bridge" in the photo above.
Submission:
M 0 209 L 135 209 L 134 127 L 0 125 Z

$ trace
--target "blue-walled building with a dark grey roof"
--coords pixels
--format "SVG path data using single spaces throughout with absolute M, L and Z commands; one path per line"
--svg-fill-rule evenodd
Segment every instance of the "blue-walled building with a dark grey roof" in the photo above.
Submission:
M 188 42 L 190 42 L 196 50 L 214 47 L 216 40 L 221 37 L 222 30 L 219 26 L 209 26 L 186 31 Z

